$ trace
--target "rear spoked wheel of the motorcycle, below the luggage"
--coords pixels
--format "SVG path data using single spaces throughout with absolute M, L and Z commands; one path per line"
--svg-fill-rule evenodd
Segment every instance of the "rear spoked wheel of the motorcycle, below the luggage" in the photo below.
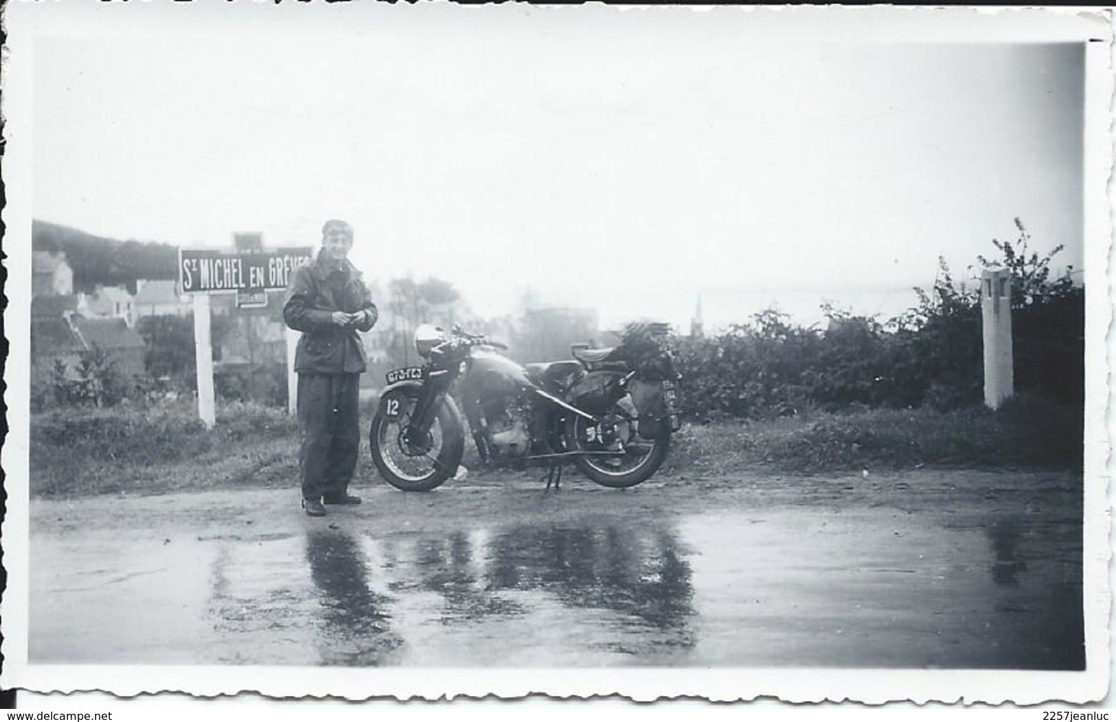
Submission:
M 602 417 L 589 440 L 590 422 L 580 416 L 571 421 L 571 437 L 578 451 L 613 451 L 623 449 L 615 456 L 578 456 L 578 470 L 602 484 L 614 489 L 634 487 L 650 479 L 666 459 L 671 434 L 664 432 L 654 439 L 643 439 L 636 433 L 636 411 L 631 399 L 622 398 Z

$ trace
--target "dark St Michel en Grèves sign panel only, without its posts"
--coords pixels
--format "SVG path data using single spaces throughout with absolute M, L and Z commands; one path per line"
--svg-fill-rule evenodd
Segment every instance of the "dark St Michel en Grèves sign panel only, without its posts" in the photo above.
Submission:
M 290 275 L 314 260 L 314 249 L 260 251 L 180 249 L 179 287 L 183 293 L 233 293 L 287 288 Z

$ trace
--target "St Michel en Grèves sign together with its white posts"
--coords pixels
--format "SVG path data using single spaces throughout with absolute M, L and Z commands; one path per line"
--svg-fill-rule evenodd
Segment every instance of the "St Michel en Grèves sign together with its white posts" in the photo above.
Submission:
M 179 249 L 179 288 L 194 297 L 194 359 L 198 367 L 198 416 L 212 427 L 217 420 L 213 393 L 213 343 L 210 334 L 210 296 L 237 293 L 247 298 L 263 298 L 267 291 L 287 288 L 291 273 L 314 259 L 309 247 L 219 250 L 212 248 Z M 251 305 L 251 302 L 246 304 Z M 295 378 L 294 331 L 287 338 L 288 411 L 294 413 L 297 382 Z M 294 338 L 294 340 L 292 340 Z

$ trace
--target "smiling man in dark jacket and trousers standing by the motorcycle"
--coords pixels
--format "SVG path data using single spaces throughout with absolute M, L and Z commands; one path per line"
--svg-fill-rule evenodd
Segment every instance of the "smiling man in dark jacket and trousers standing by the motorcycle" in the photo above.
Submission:
M 295 271 L 283 301 L 287 326 L 302 331 L 295 352 L 302 427 L 298 462 L 302 508 L 311 517 L 326 514 L 323 503 L 360 503 L 348 493 L 360 447 L 358 385 L 366 368 L 357 331 L 371 330 L 379 312 L 348 260 L 352 248 L 353 227 L 326 221 L 317 259 Z

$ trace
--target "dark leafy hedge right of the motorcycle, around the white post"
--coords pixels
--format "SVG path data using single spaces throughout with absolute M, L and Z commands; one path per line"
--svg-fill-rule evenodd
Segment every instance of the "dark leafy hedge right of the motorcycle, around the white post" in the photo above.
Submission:
M 993 241 L 1002 258 L 982 266 L 1012 272 L 1016 389 L 1069 404 L 1085 401 L 1085 290 L 1069 277 L 1051 281 L 1049 262 L 1027 250 L 1017 219 L 1014 243 Z M 689 421 L 770 420 L 870 408 L 929 406 L 951 411 L 983 401 L 980 295 L 956 283 L 945 259 L 930 290 L 881 324 L 825 306 L 828 328 L 802 328 L 776 310 L 712 338 L 682 338 L 680 411 Z

